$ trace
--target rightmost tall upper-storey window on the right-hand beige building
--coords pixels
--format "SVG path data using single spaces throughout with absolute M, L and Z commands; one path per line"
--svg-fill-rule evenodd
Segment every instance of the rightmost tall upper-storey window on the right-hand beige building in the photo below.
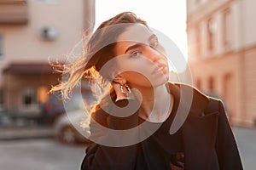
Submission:
M 231 14 L 230 8 L 226 8 L 224 10 L 224 23 L 223 23 L 223 33 L 224 33 L 224 50 L 230 49 L 230 42 L 231 42 L 231 32 L 232 32 L 232 23 L 231 23 Z

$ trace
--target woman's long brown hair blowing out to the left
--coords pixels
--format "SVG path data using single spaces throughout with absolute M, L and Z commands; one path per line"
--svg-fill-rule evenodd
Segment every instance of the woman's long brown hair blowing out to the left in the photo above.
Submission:
M 147 26 L 144 20 L 131 12 L 117 14 L 110 20 L 102 22 L 91 37 L 84 36 L 84 53 L 79 59 L 65 65 L 54 65 L 55 70 L 61 72 L 62 77 L 65 76 L 65 78 L 62 78 L 62 81 L 53 86 L 49 92 L 61 91 L 62 97 L 67 99 L 83 77 L 88 78 L 90 82 L 96 79 L 100 80 L 102 87 L 104 87 L 104 83 L 109 80 L 109 73 L 100 75 L 99 71 L 109 59 L 115 56 L 114 48 L 117 38 L 127 28 L 127 25 L 121 26 L 120 24 L 143 24 Z M 108 44 L 108 42 L 113 43 Z M 111 89 L 108 92 L 112 92 L 111 96 L 114 98 L 115 93 Z

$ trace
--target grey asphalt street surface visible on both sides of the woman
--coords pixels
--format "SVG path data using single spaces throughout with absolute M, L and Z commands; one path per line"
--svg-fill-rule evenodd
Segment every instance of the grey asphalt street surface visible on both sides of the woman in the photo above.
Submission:
M 234 127 L 245 170 L 256 167 L 256 129 Z M 0 141 L 1 170 L 76 170 L 84 158 L 84 145 L 60 144 L 54 139 Z

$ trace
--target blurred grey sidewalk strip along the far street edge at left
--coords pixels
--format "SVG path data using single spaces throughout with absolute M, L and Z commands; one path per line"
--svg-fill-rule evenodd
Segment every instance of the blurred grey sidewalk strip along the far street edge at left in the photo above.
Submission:
M 0 140 L 53 138 L 53 127 L 0 127 Z

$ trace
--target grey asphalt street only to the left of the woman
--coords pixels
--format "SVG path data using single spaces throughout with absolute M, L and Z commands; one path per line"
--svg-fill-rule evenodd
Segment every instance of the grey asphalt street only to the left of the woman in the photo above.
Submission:
M 54 139 L 0 142 L 1 170 L 75 170 L 84 157 L 83 145 L 60 144 Z

